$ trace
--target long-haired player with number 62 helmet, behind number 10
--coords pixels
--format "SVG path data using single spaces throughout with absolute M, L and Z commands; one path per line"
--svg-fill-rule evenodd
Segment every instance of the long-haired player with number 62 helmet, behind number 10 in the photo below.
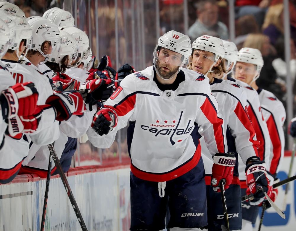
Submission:
M 192 44 L 192 54 L 189 57 L 189 68 L 200 71 L 210 79 L 212 94 L 218 102 L 219 112 L 221 112 L 224 125 L 227 126 L 226 139 L 228 152 L 234 152 L 243 159 L 248 178 L 253 177 L 249 169 L 260 165 L 258 162 L 259 142 L 255 140 L 255 131 L 252 123 L 247 116 L 245 107 L 247 95 L 242 88 L 229 81 L 214 78 L 214 75 L 222 76 L 226 72 L 223 62 L 224 48 L 223 41 L 209 35 L 197 38 Z M 205 145 L 202 145 L 202 157 L 205 163 L 206 184 L 207 184 L 207 203 L 208 203 L 208 230 L 221 230 L 224 224 L 221 196 L 214 193 L 210 188 L 210 174 L 213 160 Z M 261 166 L 261 165 L 260 165 Z M 261 182 L 256 182 L 260 183 Z M 267 180 L 266 182 L 267 183 Z M 240 230 L 242 228 L 241 216 L 241 193 L 238 180 L 238 163 L 234 168 L 234 178 L 231 186 L 226 190 L 227 212 L 237 214 L 229 220 L 230 230 Z

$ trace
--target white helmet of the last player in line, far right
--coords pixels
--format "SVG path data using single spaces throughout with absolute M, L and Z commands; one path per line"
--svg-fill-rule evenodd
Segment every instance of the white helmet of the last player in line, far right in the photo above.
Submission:
M 257 74 L 255 75 L 253 81 L 259 78 L 260 71 L 263 67 L 262 54 L 258 49 L 244 47 L 237 53 L 237 62 L 254 64 L 256 66 Z

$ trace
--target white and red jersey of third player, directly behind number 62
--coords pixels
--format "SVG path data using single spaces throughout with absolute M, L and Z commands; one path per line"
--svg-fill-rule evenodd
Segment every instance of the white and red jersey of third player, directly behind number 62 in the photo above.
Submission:
M 248 84 L 237 80 L 227 77 L 227 79 L 236 82 L 240 86 L 242 86 L 242 89 L 247 93 L 247 112 L 249 115 L 249 118 L 252 122 L 253 128 L 256 132 L 256 139 L 260 142 L 260 147 L 258 148 L 258 154 L 260 157 L 260 160 L 265 160 L 265 162 L 269 162 L 270 157 L 270 138 L 268 133 L 268 128 L 266 125 L 266 122 L 264 121 L 261 106 L 260 106 L 260 100 L 258 93 L 250 87 Z M 247 184 L 245 183 L 246 175 L 245 175 L 245 162 L 242 161 L 242 159 L 239 157 L 239 179 L 243 182 L 241 183 L 241 186 L 246 187 Z

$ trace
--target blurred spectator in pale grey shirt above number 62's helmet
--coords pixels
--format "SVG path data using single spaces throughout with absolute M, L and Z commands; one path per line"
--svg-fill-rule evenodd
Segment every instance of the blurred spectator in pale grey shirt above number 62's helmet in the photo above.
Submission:
M 197 4 L 197 19 L 188 30 L 188 36 L 193 41 L 201 35 L 211 35 L 227 40 L 229 33 L 226 25 L 218 21 L 218 5 L 215 0 L 202 0 Z

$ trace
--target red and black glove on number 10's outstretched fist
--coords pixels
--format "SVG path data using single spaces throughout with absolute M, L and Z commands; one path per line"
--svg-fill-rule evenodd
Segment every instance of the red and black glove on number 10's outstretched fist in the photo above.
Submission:
M 117 125 L 117 121 L 118 116 L 114 110 L 110 108 L 101 108 L 94 115 L 91 127 L 100 136 L 103 134 L 107 135 L 109 131 L 112 131 Z

